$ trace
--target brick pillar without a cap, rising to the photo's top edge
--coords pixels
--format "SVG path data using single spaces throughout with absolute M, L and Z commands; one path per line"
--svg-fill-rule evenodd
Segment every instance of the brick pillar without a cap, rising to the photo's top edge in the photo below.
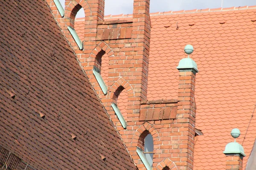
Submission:
M 150 16 L 149 0 L 134 0 L 132 36 L 134 46 L 134 60 L 137 68 L 142 68 L 140 83 L 136 83 L 140 98 L 146 100 L 148 85 L 148 57 L 150 44 Z M 133 83 L 131 83 L 133 84 Z

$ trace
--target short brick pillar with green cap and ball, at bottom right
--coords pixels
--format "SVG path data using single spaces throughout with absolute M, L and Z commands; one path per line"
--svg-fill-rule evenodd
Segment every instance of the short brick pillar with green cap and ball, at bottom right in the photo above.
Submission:
M 233 129 L 231 136 L 235 138 L 235 142 L 228 143 L 223 152 L 226 155 L 226 170 L 242 170 L 245 156 L 244 148 L 236 142 L 236 138 L 240 136 L 240 130 Z

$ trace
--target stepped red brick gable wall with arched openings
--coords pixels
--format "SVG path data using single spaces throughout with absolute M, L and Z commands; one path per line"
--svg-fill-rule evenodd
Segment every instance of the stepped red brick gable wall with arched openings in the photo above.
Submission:
M 47 3 L 139 170 L 145 170 L 145 166 L 136 148 L 143 147 L 147 133 L 151 133 L 154 141 L 154 170 L 192 169 L 195 74 L 180 72 L 177 99 L 147 101 L 149 0 L 134 0 L 133 15 L 125 20 L 103 20 L 104 0 L 66 0 L 63 18 L 53 0 Z M 75 26 L 75 14 L 80 8 L 85 12 L 84 31 L 80 35 L 83 50 L 79 50 L 67 30 L 67 26 Z M 108 88 L 106 95 L 93 75 L 93 66 L 101 70 Z M 114 113 L 112 102 L 125 114 L 126 129 Z

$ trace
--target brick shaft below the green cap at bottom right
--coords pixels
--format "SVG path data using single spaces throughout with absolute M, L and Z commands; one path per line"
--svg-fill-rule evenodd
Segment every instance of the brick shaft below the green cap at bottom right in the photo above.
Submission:
M 243 159 L 237 155 L 226 156 L 226 170 L 242 170 Z

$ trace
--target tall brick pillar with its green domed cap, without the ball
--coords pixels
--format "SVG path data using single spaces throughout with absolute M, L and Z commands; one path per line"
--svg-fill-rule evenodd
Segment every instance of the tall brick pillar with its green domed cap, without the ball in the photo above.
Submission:
M 191 58 L 181 59 L 177 69 L 180 71 L 177 103 L 177 123 L 185 127 L 179 136 L 184 144 L 181 150 L 181 162 L 176 165 L 180 169 L 192 170 L 195 147 L 195 74 L 198 72 L 196 63 Z

